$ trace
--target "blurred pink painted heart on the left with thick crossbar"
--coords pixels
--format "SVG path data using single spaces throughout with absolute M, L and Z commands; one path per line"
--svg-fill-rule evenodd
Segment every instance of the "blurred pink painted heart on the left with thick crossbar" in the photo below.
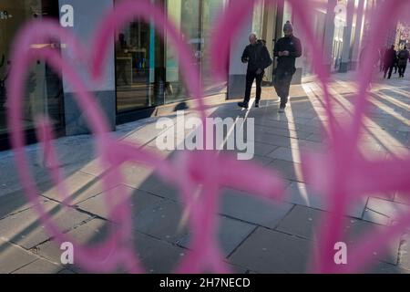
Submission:
M 190 64 L 190 51 L 182 42 L 179 32 L 172 24 L 166 20 L 161 10 L 149 1 L 123 1 L 115 10 L 108 13 L 104 22 L 97 30 L 95 44 L 97 52 L 93 59 L 92 74 L 95 78 L 101 76 L 108 47 L 112 42 L 116 28 L 125 25 L 136 16 L 145 21 L 153 21 L 157 24 L 160 35 L 165 35 L 171 40 L 173 46 L 179 51 L 183 58 L 179 58 L 180 66 L 183 69 L 184 78 L 190 95 L 199 102 L 200 115 L 205 120 L 205 110 L 202 102 L 202 92 L 199 83 L 199 74 Z M 210 268 L 217 272 L 226 272 L 227 268 L 221 261 L 218 245 L 215 240 L 216 230 L 216 208 L 218 205 L 218 194 L 222 186 L 241 188 L 250 193 L 258 193 L 261 197 L 280 198 L 283 191 L 282 181 L 272 172 L 267 172 L 260 167 L 248 163 L 232 161 L 223 156 L 217 156 L 212 151 L 188 152 L 180 156 L 178 166 L 166 162 L 155 154 L 138 149 L 138 145 L 129 144 L 123 141 L 115 141 L 108 134 L 108 123 L 103 118 L 102 110 L 97 105 L 94 97 L 87 92 L 85 84 L 77 75 L 72 65 L 62 59 L 56 51 L 50 48 L 33 50 L 30 44 L 50 38 L 61 38 L 65 43 L 70 44 L 73 54 L 76 57 L 87 56 L 86 51 L 77 43 L 74 36 L 71 36 L 63 28 L 47 21 L 31 23 L 27 25 L 16 37 L 13 46 L 13 62 L 15 67 L 11 72 L 8 82 L 10 99 L 9 126 L 12 131 L 12 145 L 15 150 L 15 160 L 21 181 L 26 193 L 34 203 L 36 212 L 40 214 L 40 220 L 45 224 L 48 232 L 56 238 L 57 243 L 70 241 L 67 235 L 59 231 L 41 203 L 38 203 L 38 190 L 36 183 L 28 170 L 26 153 L 24 151 L 24 139 L 22 132 L 22 100 L 23 84 L 26 78 L 26 68 L 35 59 L 44 59 L 56 72 L 64 71 L 67 81 L 77 92 L 77 103 L 84 110 L 90 129 L 95 133 L 97 153 L 102 165 L 108 168 L 108 173 L 102 178 L 107 189 L 107 204 L 112 207 L 109 219 L 118 223 L 111 231 L 108 240 L 92 248 L 75 245 L 76 262 L 87 269 L 96 272 L 108 272 L 122 265 L 130 272 L 141 272 L 142 268 L 138 263 L 138 258 L 134 255 L 130 237 L 132 226 L 130 221 L 129 203 L 123 195 L 124 189 L 113 193 L 112 189 L 118 183 L 123 182 L 119 173 L 119 165 L 123 162 L 144 163 L 153 167 L 165 180 L 174 183 L 182 191 L 184 203 L 190 206 L 190 226 L 192 233 L 192 252 L 185 257 L 178 272 L 200 272 L 204 268 Z M 205 123 L 203 123 L 205 125 Z M 62 183 L 62 174 L 56 168 L 58 165 L 56 151 L 51 143 L 51 130 L 46 119 L 40 118 L 36 122 L 37 136 L 43 142 L 48 160 L 52 167 L 51 177 L 57 185 L 59 193 L 68 199 L 67 190 Z M 204 141 L 205 142 L 205 141 Z M 200 166 L 200 167 L 199 167 Z M 215 167 L 218 166 L 218 167 Z M 250 174 L 238 182 L 237 177 L 244 172 Z M 255 182 L 260 182 L 256 183 Z M 200 200 L 193 198 L 194 188 L 203 185 Z M 113 253 L 113 251 L 115 251 Z M 109 257 L 107 257 L 110 255 Z

